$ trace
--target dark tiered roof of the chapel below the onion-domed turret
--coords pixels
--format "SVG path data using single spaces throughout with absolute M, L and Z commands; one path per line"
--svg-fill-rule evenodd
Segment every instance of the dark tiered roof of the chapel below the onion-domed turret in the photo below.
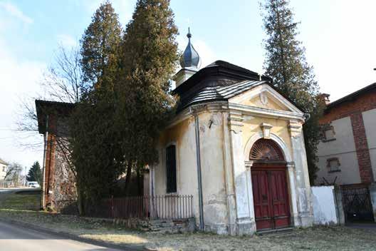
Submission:
M 260 80 L 258 73 L 226 61 L 215 61 L 202 68 L 175 88 L 172 93 L 179 96 L 177 106 L 177 111 L 179 112 L 195 103 L 227 101 L 229 98 L 263 83 L 271 86 L 271 88 L 296 106 L 296 103 L 284 96 L 271 84 L 272 79 L 270 77 L 261 76 Z M 302 108 L 296 107 L 304 112 Z

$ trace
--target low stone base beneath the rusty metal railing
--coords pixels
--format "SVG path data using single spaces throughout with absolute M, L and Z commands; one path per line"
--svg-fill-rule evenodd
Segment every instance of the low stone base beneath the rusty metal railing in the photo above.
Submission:
M 196 230 L 196 222 L 194 218 L 179 220 L 142 220 L 132 218 L 113 219 L 111 221 L 115 224 L 125 225 L 128 228 L 146 232 L 179 233 L 194 232 L 194 230 Z

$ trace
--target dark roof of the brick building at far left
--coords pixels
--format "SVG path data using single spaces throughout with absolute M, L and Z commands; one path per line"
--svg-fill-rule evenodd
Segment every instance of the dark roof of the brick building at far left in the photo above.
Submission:
M 57 101 L 41 101 L 36 99 L 36 116 L 38 118 L 39 133 L 46 133 L 46 116 L 59 114 L 67 115 L 75 107 L 74 103 Z

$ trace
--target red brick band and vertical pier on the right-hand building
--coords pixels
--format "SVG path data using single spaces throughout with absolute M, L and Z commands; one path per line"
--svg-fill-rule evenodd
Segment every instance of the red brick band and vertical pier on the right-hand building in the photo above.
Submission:
M 370 91 L 357 96 L 352 101 L 346 101 L 333 108 L 328 108 L 323 118 L 320 119 L 320 123 L 330 123 L 331 121 L 350 116 L 362 183 L 372 183 L 374 181 L 362 112 L 375 108 L 376 91 Z

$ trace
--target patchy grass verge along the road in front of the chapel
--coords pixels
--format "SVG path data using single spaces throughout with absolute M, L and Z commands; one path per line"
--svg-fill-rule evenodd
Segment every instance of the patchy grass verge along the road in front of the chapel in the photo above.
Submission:
M 28 222 L 88 239 L 147 247 L 151 250 L 376 250 L 376 232 L 371 230 L 310 227 L 252 237 L 230 237 L 202 232 L 137 232 L 100 219 L 25 210 L 20 208 L 20 200 L 25 198 L 14 196 L 15 198 L 8 198 L 5 203 L 8 208 L 13 209 L 1 208 L 0 218 Z M 15 205 L 10 205 L 13 202 Z

